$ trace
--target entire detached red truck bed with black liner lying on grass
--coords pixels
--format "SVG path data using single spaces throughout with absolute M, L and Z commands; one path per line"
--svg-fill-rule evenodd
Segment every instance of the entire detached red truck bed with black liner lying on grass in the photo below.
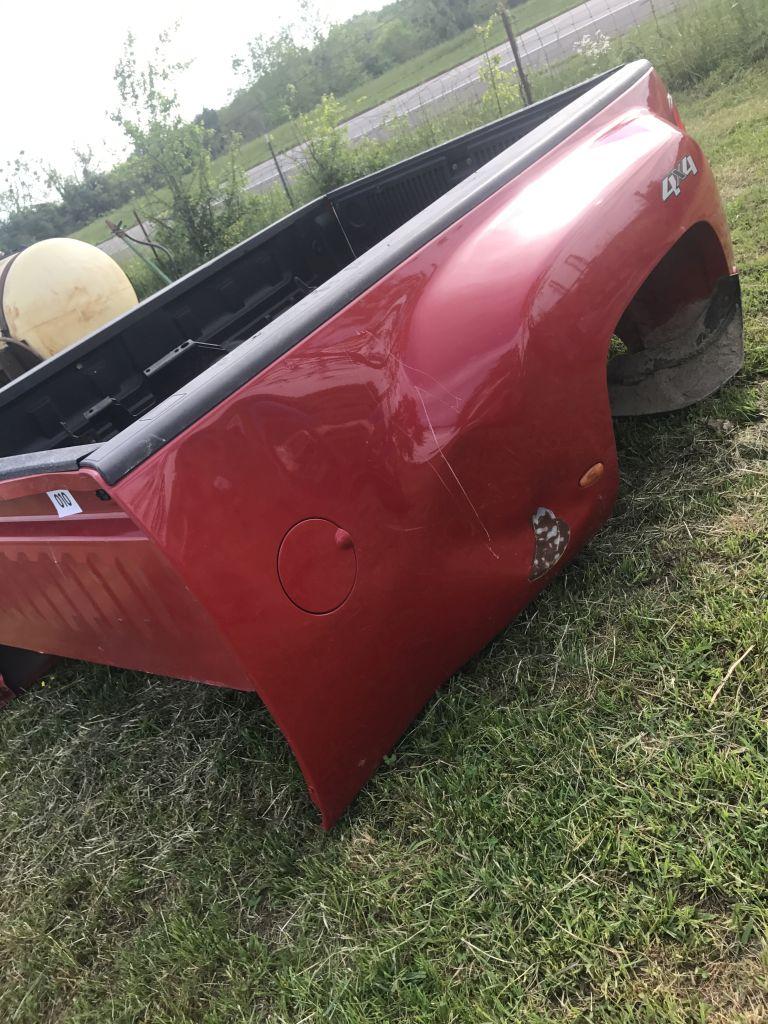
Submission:
M 601 76 L 0 390 L 0 672 L 253 690 L 328 826 L 607 518 L 611 398 L 679 408 L 740 357 L 707 161 L 646 61 Z

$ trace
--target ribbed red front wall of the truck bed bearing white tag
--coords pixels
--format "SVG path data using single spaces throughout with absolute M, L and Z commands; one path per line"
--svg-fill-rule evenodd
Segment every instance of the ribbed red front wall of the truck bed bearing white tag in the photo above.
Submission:
M 0 644 L 241 686 L 211 618 L 92 476 L 0 483 Z M 57 516 L 57 488 L 82 514 Z

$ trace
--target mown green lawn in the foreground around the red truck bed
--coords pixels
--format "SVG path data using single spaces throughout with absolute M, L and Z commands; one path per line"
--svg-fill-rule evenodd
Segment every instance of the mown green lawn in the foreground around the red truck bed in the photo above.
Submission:
M 331 834 L 245 694 L 71 665 L 0 719 L 0 1020 L 768 1021 L 768 67 L 677 97 L 746 365 L 617 427 L 601 534 Z

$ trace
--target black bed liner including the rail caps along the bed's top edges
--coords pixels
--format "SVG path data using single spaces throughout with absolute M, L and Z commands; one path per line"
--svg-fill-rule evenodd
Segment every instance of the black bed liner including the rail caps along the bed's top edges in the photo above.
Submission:
M 0 389 L 0 479 L 115 483 L 590 120 L 638 60 L 321 197 Z

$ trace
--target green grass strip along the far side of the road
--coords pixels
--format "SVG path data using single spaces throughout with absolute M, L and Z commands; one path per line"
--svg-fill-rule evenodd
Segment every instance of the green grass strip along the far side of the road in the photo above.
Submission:
M 512 22 L 515 31 L 517 33 L 525 32 L 537 25 L 541 25 L 543 22 L 548 22 L 557 14 L 561 14 L 563 11 L 569 10 L 571 7 L 577 6 L 579 2 L 581 0 L 525 0 L 524 3 L 512 9 Z M 490 45 L 496 46 L 504 42 L 505 39 L 506 35 L 502 26 L 500 24 L 495 25 L 490 33 Z M 474 29 L 469 29 L 455 36 L 453 39 L 446 40 L 444 43 L 439 43 L 437 46 L 432 46 L 430 49 L 419 54 L 419 56 L 411 57 L 411 59 L 404 60 L 396 68 L 391 68 L 383 75 L 370 79 L 345 95 L 339 96 L 338 98 L 342 105 L 342 119 L 346 121 L 354 117 L 355 114 L 362 114 L 365 111 L 371 110 L 372 106 L 378 106 L 379 103 L 383 103 L 387 99 L 392 99 L 401 92 L 406 92 L 408 89 L 420 85 L 422 82 L 426 82 L 436 75 L 442 74 L 442 72 L 450 71 L 460 63 L 464 63 L 465 60 L 470 60 L 481 53 L 482 49 L 483 44 Z M 296 126 L 290 121 L 278 125 L 270 132 L 270 135 L 272 144 L 278 153 L 290 150 L 299 141 Z M 268 160 L 269 151 L 266 147 L 264 139 L 259 136 L 245 141 L 241 146 L 240 159 L 243 167 L 246 169 L 255 167 L 257 164 Z M 226 158 L 220 157 L 214 161 L 214 168 L 224 173 L 225 161 Z M 156 195 L 162 201 L 163 193 Z M 97 217 L 89 224 L 84 225 L 73 233 L 73 238 L 80 239 L 83 242 L 90 242 L 92 245 L 98 245 L 99 242 L 103 242 L 110 234 L 104 224 L 105 217 L 110 220 L 123 220 L 126 224 L 133 224 L 135 222 L 133 208 L 138 206 L 144 209 L 145 204 L 146 200 L 143 198 L 131 200 L 130 203 L 126 203 L 119 209 L 103 214 L 103 216 Z

